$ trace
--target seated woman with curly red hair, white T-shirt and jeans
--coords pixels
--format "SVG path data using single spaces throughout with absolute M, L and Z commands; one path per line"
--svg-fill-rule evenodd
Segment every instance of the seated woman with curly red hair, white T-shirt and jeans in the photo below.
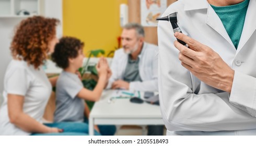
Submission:
M 54 18 L 34 16 L 18 25 L 10 46 L 13 60 L 4 78 L 0 135 L 88 135 L 83 130 L 86 124 L 41 122 L 57 80 L 48 79 L 42 65 L 59 42 L 58 23 Z

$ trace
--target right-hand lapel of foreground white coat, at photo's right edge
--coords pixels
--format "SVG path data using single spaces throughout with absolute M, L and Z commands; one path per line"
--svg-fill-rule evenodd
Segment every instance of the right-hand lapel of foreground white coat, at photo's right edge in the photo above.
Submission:
M 251 35 L 254 33 L 256 29 L 256 9 L 255 9 L 256 2 L 250 1 L 247 13 L 245 24 L 243 25 L 243 30 L 241 34 L 241 38 L 237 47 L 236 54 L 242 49 L 242 47 L 246 44 L 246 42 L 250 39 Z M 244 48 L 245 49 L 245 48 Z

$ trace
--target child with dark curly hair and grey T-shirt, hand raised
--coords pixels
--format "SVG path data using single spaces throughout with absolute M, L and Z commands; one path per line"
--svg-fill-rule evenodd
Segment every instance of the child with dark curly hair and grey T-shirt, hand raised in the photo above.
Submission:
M 79 39 L 66 36 L 56 44 L 52 54 L 53 62 L 63 69 L 56 85 L 55 122 L 88 123 L 89 108 L 84 100 L 98 101 L 112 74 L 106 58 L 101 57 L 96 66 L 99 79 L 95 89 L 91 91 L 84 88 L 76 74 L 77 70 L 83 66 L 83 47 L 84 43 Z M 84 118 L 84 115 L 87 118 Z M 115 126 L 96 126 L 95 129 L 102 135 L 114 135 L 116 130 Z

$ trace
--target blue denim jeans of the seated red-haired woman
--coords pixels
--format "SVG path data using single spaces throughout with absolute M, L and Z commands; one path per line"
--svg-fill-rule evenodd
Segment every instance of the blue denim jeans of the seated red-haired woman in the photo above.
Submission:
M 48 127 L 55 127 L 63 129 L 61 133 L 32 133 L 31 136 L 88 136 L 89 128 L 86 123 L 79 122 L 61 122 L 61 123 L 47 123 L 44 124 Z M 100 133 L 94 131 L 96 136 L 100 136 Z

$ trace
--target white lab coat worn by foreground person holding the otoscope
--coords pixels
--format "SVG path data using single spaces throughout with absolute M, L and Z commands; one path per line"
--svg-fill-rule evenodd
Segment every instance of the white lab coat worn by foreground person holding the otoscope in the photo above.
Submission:
M 169 131 L 256 129 L 255 6 L 251 0 L 237 50 L 206 0 L 179 0 L 162 15 L 178 12 L 182 32 L 213 48 L 235 70 L 230 94 L 200 81 L 181 65 L 170 22 L 160 21 L 159 98 Z

